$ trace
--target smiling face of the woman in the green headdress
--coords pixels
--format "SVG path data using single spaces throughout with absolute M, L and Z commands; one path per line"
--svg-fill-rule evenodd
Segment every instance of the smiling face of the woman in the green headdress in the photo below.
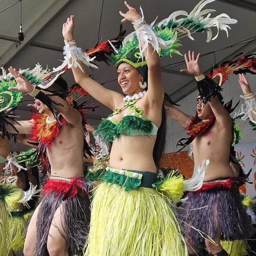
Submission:
M 117 80 L 123 93 L 133 96 L 135 93 L 142 91 L 139 86 L 139 81 L 142 81 L 142 76 L 135 67 L 123 62 L 118 66 L 117 75 Z

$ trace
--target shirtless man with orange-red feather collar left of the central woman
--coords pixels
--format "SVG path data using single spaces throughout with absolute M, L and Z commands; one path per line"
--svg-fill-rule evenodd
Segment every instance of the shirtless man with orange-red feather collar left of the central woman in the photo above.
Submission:
M 9 87 L 9 90 L 23 93 L 35 91 L 35 85 L 17 70 L 10 67 L 9 72 L 17 82 L 17 87 Z M 67 84 L 64 87 L 55 82 L 48 89 L 66 91 Z M 45 90 L 43 92 L 49 94 Z M 19 121 L 20 125 L 13 123 L 19 133 L 33 134 L 46 143 L 51 166 L 50 180 L 43 188 L 45 196 L 35 209 L 28 226 L 24 254 L 80 256 L 90 221 L 88 182 L 83 174 L 82 117 L 65 99 L 59 96 L 51 96 L 51 99 L 61 103 L 60 106 L 55 105 L 55 109 L 62 125 L 38 99 L 35 99 L 39 113 L 37 119 Z

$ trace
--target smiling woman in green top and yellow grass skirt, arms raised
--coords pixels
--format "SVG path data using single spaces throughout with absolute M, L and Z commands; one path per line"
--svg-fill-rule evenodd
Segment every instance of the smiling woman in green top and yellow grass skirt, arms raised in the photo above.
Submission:
M 124 17 L 122 22 L 135 22 L 135 29 L 145 27 L 142 15 L 126 1 L 125 5 L 128 12 L 120 12 Z M 73 27 L 74 19 L 70 16 L 63 24 L 62 32 L 64 39 L 76 47 Z M 166 193 L 160 190 L 171 179 L 159 186 L 156 184 L 156 166 L 164 142 L 160 143 L 162 147 L 158 150 L 154 151 L 154 147 L 159 138 L 165 138 L 166 121 L 165 117 L 162 118 L 162 113 L 163 116 L 165 113 L 160 58 L 150 41 L 145 44 L 141 40 L 140 44 L 145 57 L 139 68 L 127 63 L 127 55 L 126 61 L 116 64 L 118 83 L 128 95 L 125 99 L 122 94 L 91 79 L 85 70 L 82 72 L 72 67 L 76 82 L 114 111 L 96 131 L 105 141 L 113 140 L 113 145 L 110 166 L 93 198 L 90 233 L 85 248 L 87 256 L 186 255 L 177 220 L 167 204 Z M 155 156 L 153 151 L 157 153 Z M 183 180 L 180 180 L 182 195 Z M 157 189 L 152 188 L 152 184 L 158 186 Z

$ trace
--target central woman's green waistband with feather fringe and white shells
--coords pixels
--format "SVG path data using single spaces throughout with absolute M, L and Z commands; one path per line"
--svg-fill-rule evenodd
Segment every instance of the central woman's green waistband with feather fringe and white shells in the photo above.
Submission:
M 125 190 L 137 189 L 139 187 L 152 188 L 152 184 L 157 182 L 157 173 L 116 169 L 108 166 L 102 180 L 123 186 Z

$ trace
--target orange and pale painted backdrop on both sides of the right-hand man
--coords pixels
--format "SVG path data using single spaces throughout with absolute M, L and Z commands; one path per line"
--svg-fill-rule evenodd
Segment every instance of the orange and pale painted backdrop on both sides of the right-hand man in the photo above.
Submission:
M 235 150 L 236 159 L 241 164 L 244 172 L 247 173 L 252 169 L 249 176 L 249 180 L 252 183 L 246 183 L 239 189 L 244 195 L 254 197 L 256 195 L 256 143 L 238 144 L 235 146 Z M 178 169 L 188 179 L 192 176 L 194 162 L 188 156 L 188 151 L 180 151 L 164 154 L 161 166 Z

